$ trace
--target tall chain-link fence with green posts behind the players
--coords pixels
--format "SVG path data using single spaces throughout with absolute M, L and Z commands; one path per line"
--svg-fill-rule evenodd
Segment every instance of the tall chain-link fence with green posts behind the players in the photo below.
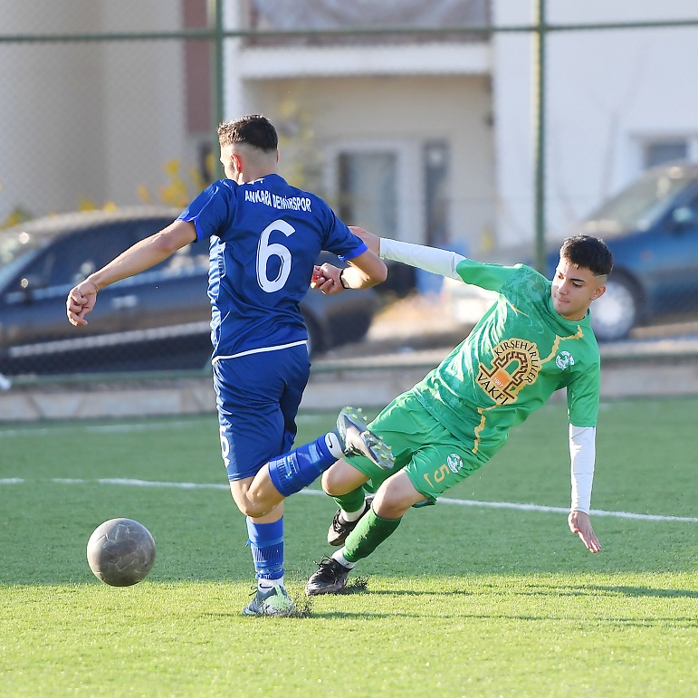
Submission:
M 220 176 L 215 125 L 250 112 L 282 176 L 378 234 L 541 267 L 589 218 L 617 257 L 599 337 L 693 333 L 698 169 L 666 167 L 698 155 L 691 3 L 549 5 L 0 0 L 0 373 L 205 369 L 196 245 L 105 290 L 89 331 L 64 300 Z M 313 295 L 316 356 L 396 297 L 463 326 L 487 302 L 399 266 L 349 305 Z

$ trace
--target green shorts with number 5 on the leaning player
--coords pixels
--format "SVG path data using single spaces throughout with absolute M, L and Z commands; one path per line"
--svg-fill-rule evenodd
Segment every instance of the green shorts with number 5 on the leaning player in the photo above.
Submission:
M 366 488 L 378 490 L 390 475 L 404 470 L 427 502 L 472 475 L 484 462 L 476 458 L 451 432 L 426 411 L 408 391 L 393 400 L 368 428 L 383 437 L 395 455 L 395 468 L 383 470 L 365 456 L 347 460 L 368 476 Z

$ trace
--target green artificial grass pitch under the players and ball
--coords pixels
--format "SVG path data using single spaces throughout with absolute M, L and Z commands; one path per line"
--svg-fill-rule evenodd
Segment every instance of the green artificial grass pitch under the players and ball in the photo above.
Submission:
M 352 574 L 366 589 L 292 618 L 240 615 L 252 561 L 215 416 L 0 426 L 0 695 L 695 695 L 696 414 L 698 398 L 602 406 L 598 555 L 557 509 L 569 455 L 556 402 L 449 502 L 408 512 Z M 299 440 L 331 423 L 302 415 Z M 301 607 L 334 511 L 317 491 L 286 502 Z M 116 516 L 158 545 L 134 587 L 100 583 L 85 557 Z

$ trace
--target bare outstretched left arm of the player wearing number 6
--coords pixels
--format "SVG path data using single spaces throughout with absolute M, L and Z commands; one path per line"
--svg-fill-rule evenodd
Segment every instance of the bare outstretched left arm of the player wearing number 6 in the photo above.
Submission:
M 150 269 L 176 253 L 180 247 L 195 240 L 194 224 L 177 220 L 159 233 L 129 247 L 126 252 L 72 288 L 65 301 L 68 321 L 76 327 L 86 325 L 85 315 L 94 308 L 100 289 Z

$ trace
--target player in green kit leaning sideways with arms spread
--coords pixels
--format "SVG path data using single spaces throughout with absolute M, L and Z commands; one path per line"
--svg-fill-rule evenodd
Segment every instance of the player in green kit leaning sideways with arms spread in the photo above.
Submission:
M 472 475 L 502 448 L 512 426 L 563 387 L 572 483 L 569 529 L 591 552 L 601 550 L 588 516 L 600 391 L 600 357 L 588 311 L 606 291 L 613 267 L 606 244 L 588 235 L 565 240 L 550 282 L 523 264 L 481 263 L 368 233 L 361 237 L 384 259 L 498 292 L 499 299 L 437 368 L 369 425 L 391 446 L 393 470 L 353 456 L 323 474 L 324 491 L 339 504 L 328 542 L 343 547 L 320 561 L 305 593 L 339 592 L 350 569 L 396 531 L 411 506 L 434 504 Z M 367 492 L 375 494 L 366 497 Z

